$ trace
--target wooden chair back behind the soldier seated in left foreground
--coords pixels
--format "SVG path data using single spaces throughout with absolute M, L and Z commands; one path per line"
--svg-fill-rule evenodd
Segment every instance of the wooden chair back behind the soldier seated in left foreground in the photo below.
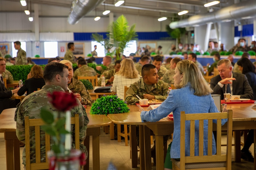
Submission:
M 75 147 L 79 150 L 79 114 L 75 114 L 75 117 L 71 117 L 71 124 L 75 124 Z M 41 162 L 40 153 L 40 126 L 45 125 L 42 119 L 29 119 L 25 117 L 25 146 L 26 146 L 26 170 L 36 169 L 48 169 L 49 163 L 46 154 L 45 162 Z M 35 127 L 35 146 L 36 146 L 36 163 L 30 163 L 30 135 L 29 127 Z M 45 153 L 50 150 L 50 135 L 45 133 Z

